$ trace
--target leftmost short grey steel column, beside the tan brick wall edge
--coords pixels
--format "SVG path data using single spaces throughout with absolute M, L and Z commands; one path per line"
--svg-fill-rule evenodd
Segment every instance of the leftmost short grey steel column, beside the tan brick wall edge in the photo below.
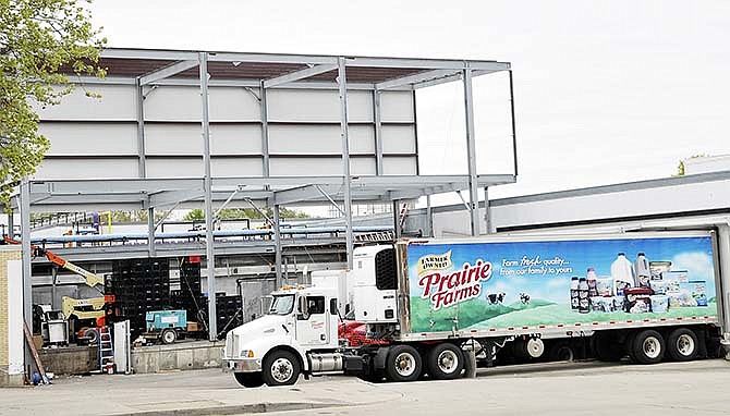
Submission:
M 23 259 L 23 318 L 33 332 L 33 283 L 31 281 L 31 257 L 33 249 L 31 248 L 31 184 L 28 178 L 25 176 L 21 181 L 21 242 L 22 242 L 22 259 Z M 25 370 L 26 375 L 31 375 L 33 368 L 33 356 L 28 348 L 27 342 L 23 342 L 25 350 Z

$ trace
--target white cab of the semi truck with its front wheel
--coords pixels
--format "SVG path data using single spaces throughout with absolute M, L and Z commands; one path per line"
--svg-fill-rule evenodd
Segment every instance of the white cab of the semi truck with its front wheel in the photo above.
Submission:
M 337 371 L 336 287 L 284 286 L 272 293 L 267 315 L 228 333 L 223 370 L 244 387 L 293 384 L 300 374 Z

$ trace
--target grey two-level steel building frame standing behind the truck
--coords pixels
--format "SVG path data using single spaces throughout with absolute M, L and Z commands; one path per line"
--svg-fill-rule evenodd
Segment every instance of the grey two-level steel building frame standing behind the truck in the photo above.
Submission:
M 272 54 L 241 52 L 205 52 L 183 50 L 107 49 L 100 54 L 106 63 L 143 62 L 154 68 L 143 73 L 107 78 L 76 77 L 74 82 L 85 84 L 118 84 L 136 87 L 137 144 L 139 169 L 137 179 L 129 180 L 26 180 L 20 192 L 13 196 L 14 209 L 21 211 L 22 240 L 24 242 L 25 314 L 29 322 L 31 314 L 31 248 L 29 212 L 73 211 L 94 207 L 99 209 L 148 209 L 149 210 L 149 255 L 155 255 L 155 209 L 162 207 L 205 206 L 206 255 L 209 287 L 209 328 L 211 340 L 216 328 L 215 291 L 215 247 L 212 237 L 214 207 L 231 200 L 250 200 L 273 207 L 273 229 L 277 252 L 277 278 L 281 282 L 281 244 L 279 230 L 279 208 L 288 204 L 330 204 L 341 201 L 346 224 L 348 266 L 352 267 L 353 224 L 352 204 L 391 203 L 429 196 L 433 194 L 469 189 L 471 229 L 478 235 L 478 188 L 485 191 L 492 185 L 512 183 L 516 180 L 516 140 L 514 135 L 514 106 L 512 95 L 512 72 L 509 62 L 373 58 L 315 54 Z M 154 63 L 158 64 L 155 65 Z M 258 78 L 211 77 L 209 63 L 227 62 L 233 66 L 241 64 L 266 64 L 289 68 L 265 74 Z M 287 66 L 289 65 L 289 66 Z M 197 76 L 190 72 L 197 66 Z M 292 69 L 293 68 L 293 69 Z M 349 71 L 367 72 L 368 81 L 348 81 Z M 398 75 L 373 76 L 384 71 L 396 71 Z M 400 72 L 399 72 L 400 71 Z M 508 174 L 479 175 L 476 172 L 476 150 L 474 136 L 474 102 L 472 79 L 474 76 L 495 72 L 509 72 L 512 117 L 512 143 L 514 171 Z M 187 76 L 184 76 L 187 73 Z M 330 78 L 324 77 L 330 74 Z M 308 81 L 307 81 L 308 79 Z M 324 81 L 323 81 L 324 79 Z M 385 175 L 382 174 L 382 139 L 380 135 L 380 95 L 385 90 L 416 90 L 448 82 L 462 81 L 464 88 L 464 111 L 466 123 L 467 167 L 466 175 Z M 204 143 L 205 175 L 186 179 L 147 179 L 145 169 L 145 88 L 166 85 L 199 86 L 200 129 Z M 258 89 L 261 114 L 263 176 L 212 178 L 210 173 L 210 133 L 208 88 L 212 86 L 245 87 L 253 93 Z M 267 90 L 271 88 L 333 89 L 339 91 L 340 134 L 342 142 L 342 175 L 338 176 L 271 176 L 269 174 Z M 352 176 L 350 173 L 348 91 L 370 90 L 374 103 L 374 126 L 376 142 L 376 175 Z M 255 93 L 253 93 L 255 94 Z M 397 210 L 394 215 L 397 215 Z M 12 218 L 12 216 L 11 216 Z M 487 217 L 488 218 L 488 207 Z

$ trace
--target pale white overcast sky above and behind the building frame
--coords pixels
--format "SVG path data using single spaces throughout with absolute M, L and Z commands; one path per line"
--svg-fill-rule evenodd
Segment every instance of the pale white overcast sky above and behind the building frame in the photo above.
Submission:
M 730 1 L 93 3 L 111 47 L 512 63 L 520 175 L 490 198 L 666 178 L 730 154 Z M 479 173 L 512 173 L 507 78 L 474 84 Z M 419 90 L 422 173 L 466 173 L 461 84 Z

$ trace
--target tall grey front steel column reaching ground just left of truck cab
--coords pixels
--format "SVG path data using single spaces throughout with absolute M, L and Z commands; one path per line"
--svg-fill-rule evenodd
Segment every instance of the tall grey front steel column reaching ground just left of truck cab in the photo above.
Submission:
M 208 53 L 198 54 L 200 69 L 200 106 L 203 127 L 203 163 L 205 166 L 205 258 L 208 271 L 208 339 L 218 334 L 216 313 L 216 255 L 212 236 L 212 179 L 210 176 L 210 120 L 208 114 Z

